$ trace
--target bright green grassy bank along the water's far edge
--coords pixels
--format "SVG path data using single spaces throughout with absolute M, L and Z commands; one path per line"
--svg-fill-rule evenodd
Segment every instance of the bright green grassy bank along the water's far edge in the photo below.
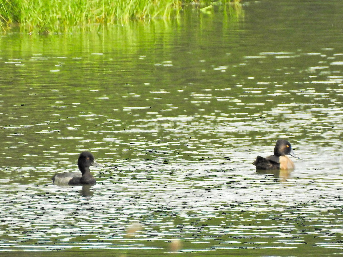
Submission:
M 211 6 L 210 1 L 199 0 L 0 0 L 0 27 L 6 30 L 19 25 L 28 32 L 57 32 L 94 23 L 165 19 L 176 16 L 185 3 Z

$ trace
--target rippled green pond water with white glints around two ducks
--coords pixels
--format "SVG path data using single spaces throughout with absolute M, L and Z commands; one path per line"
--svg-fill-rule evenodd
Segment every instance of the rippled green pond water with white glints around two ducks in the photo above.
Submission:
M 342 12 L 262 0 L 2 35 L 0 254 L 343 253 Z M 296 169 L 256 173 L 277 138 Z M 97 184 L 52 185 L 83 150 Z

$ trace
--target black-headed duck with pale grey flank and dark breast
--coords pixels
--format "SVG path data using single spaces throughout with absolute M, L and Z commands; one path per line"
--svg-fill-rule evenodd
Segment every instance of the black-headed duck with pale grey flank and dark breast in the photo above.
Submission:
M 102 167 L 102 165 L 98 164 L 94 156 L 89 151 L 83 151 L 79 155 L 78 159 L 78 167 L 80 172 L 63 172 L 57 173 L 52 177 L 52 183 L 54 185 L 69 185 L 69 186 L 77 186 L 77 185 L 95 185 L 96 181 L 93 177 L 89 167 Z

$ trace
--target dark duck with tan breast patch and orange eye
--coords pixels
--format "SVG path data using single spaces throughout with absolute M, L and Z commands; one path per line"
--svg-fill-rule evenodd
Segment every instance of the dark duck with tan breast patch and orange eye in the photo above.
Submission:
M 256 166 L 256 170 L 294 170 L 294 163 L 286 155 L 300 159 L 292 150 L 291 143 L 286 139 L 278 139 L 274 147 L 274 155 L 268 157 L 257 156 L 252 163 Z

